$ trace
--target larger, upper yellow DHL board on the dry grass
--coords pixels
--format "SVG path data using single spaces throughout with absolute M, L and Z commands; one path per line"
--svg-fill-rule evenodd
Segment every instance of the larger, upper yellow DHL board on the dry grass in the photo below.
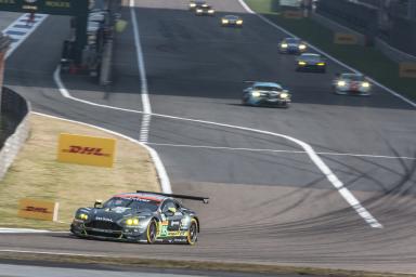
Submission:
M 112 168 L 116 140 L 107 137 L 60 134 L 57 160 L 78 164 Z

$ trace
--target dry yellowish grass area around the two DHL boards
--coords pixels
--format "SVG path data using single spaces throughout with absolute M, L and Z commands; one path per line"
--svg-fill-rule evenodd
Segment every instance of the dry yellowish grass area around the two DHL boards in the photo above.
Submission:
M 30 115 L 31 131 L 3 181 L 0 182 L 1 227 L 67 230 L 79 207 L 95 199 L 136 189 L 159 192 L 156 170 L 139 144 L 99 129 Z M 99 168 L 56 161 L 60 133 L 117 140 L 114 168 Z M 18 200 L 34 198 L 60 202 L 60 222 L 17 217 Z

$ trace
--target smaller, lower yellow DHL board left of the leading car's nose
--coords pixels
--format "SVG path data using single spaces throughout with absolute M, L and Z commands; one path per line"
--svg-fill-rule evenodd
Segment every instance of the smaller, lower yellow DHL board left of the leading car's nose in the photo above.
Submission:
M 58 202 L 23 198 L 18 201 L 17 216 L 42 221 L 57 221 L 58 207 Z

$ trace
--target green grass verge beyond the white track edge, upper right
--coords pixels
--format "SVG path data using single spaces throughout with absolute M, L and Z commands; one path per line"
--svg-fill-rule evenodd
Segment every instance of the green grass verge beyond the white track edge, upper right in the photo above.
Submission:
M 400 78 L 399 64 L 387 58 L 375 48 L 341 45 L 333 43 L 334 32 L 310 18 L 287 19 L 272 12 L 274 0 L 245 0 L 257 13 L 260 13 L 281 27 L 307 40 L 342 63 L 364 72 L 384 85 L 416 100 L 416 78 Z

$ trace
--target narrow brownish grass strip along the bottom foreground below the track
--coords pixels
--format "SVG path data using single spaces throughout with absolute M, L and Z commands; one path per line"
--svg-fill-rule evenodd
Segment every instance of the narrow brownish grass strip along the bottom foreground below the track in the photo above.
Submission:
M 161 269 L 192 269 L 192 271 L 212 271 L 212 272 L 234 272 L 234 273 L 257 273 L 257 274 L 290 274 L 310 276 L 349 276 L 349 277 L 405 277 L 410 274 L 376 273 L 362 271 L 330 269 L 318 267 L 302 266 L 281 266 L 256 263 L 224 263 L 207 261 L 182 261 L 182 260 L 161 260 L 161 259 L 140 259 L 121 256 L 93 256 L 93 255 L 70 255 L 52 253 L 23 253 L 23 252 L 0 252 L 0 260 L 3 261 L 41 261 L 44 266 L 50 263 L 60 264 L 94 264 L 94 265 L 116 265 L 117 267 L 146 267 Z

